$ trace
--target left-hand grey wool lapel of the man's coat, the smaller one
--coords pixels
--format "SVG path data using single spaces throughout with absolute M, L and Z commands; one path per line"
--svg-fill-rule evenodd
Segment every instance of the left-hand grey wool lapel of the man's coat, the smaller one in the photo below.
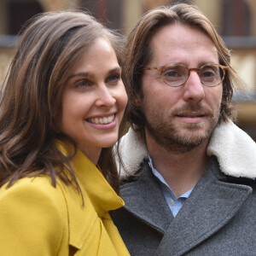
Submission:
M 138 180 L 123 185 L 120 194 L 125 201 L 126 210 L 160 233 L 166 232 L 173 219 L 172 212 L 160 192 L 148 162 L 144 162 L 144 170 Z

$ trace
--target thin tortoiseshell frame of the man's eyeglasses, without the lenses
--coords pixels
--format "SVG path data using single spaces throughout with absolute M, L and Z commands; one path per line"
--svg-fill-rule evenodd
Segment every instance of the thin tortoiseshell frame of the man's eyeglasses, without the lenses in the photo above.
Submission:
M 164 69 L 165 69 L 166 67 L 171 67 L 171 66 L 182 66 L 182 67 L 185 67 L 185 68 L 188 70 L 189 75 L 190 75 L 191 71 L 195 71 L 198 76 L 199 76 L 199 72 L 201 71 L 201 68 L 202 68 L 202 67 L 206 67 L 206 66 L 218 66 L 218 67 L 222 68 L 222 70 L 223 70 L 223 78 L 221 79 L 221 81 L 220 81 L 218 84 L 213 85 L 213 86 L 209 86 L 209 85 L 203 84 L 203 83 L 201 82 L 201 84 L 203 84 L 204 86 L 207 86 L 207 87 L 216 87 L 216 86 L 218 86 L 219 84 L 221 84 L 221 83 L 224 81 L 224 78 L 225 78 L 225 71 L 229 69 L 229 67 L 226 67 L 226 66 L 223 66 L 223 65 L 220 65 L 220 64 L 207 63 L 207 64 L 203 64 L 201 67 L 198 67 L 198 68 L 197 68 L 197 67 L 188 68 L 188 67 L 184 66 L 183 64 L 168 64 L 168 65 L 166 65 L 166 66 L 161 66 L 161 67 L 143 67 L 142 70 L 160 70 L 161 79 L 163 80 L 163 82 L 164 82 L 165 84 L 167 84 L 166 81 L 165 81 L 165 79 L 163 78 L 163 73 L 164 73 Z M 171 87 L 180 87 L 180 86 L 183 86 L 184 84 L 187 83 L 187 81 L 188 81 L 188 79 L 189 79 L 189 75 L 188 75 L 188 78 L 185 80 L 185 82 L 184 82 L 183 84 L 180 84 L 180 85 L 177 85 L 177 86 L 172 86 L 172 85 L 170 85 L 170 84 L 167 84 L 167 85 L 168 85 L 168 86 L 171 86 Z M 200 81 L 201 81 L 201 79 L 200 79 Z

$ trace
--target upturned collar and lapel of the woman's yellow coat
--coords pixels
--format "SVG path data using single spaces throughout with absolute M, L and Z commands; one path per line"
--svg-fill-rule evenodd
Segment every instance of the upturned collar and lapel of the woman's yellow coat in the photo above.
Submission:
M 63 149 L 62 144 L 62 152 Z M 123 207 L 125 203 L 102 176 L 102 172 L 81 151 L 74 156 L 71 166 L 84 197 L 84 206 L 78 191 L 64 184 L 60 184 L 60 187 L 67 203 L 69 244 L 80 249 L 86 237 L 90 236 L 97 218 Z

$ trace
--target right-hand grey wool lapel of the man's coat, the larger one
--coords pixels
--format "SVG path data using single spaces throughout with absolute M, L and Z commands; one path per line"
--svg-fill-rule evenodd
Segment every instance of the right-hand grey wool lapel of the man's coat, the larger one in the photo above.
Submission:
M 212 158 L 177 217 L 172 221 L 156 255 L 182 255 L 212 236 L 241 208 L 252 193 L 245 185 L 219 181 L 218 162 Z

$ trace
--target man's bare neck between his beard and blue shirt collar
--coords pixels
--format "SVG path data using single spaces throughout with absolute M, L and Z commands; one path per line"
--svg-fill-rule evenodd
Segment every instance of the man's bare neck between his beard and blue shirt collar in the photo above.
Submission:
M 173 153 L 147 140 L 148 154 L 154 168 L 165 178 L 176 197 L 195 187 L 207 167 L 208 141 L 186 153 Z

